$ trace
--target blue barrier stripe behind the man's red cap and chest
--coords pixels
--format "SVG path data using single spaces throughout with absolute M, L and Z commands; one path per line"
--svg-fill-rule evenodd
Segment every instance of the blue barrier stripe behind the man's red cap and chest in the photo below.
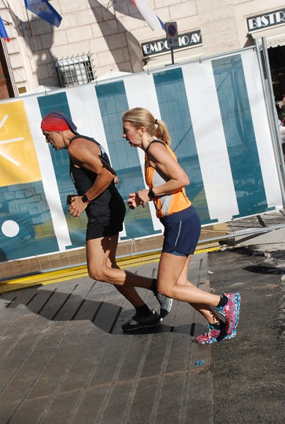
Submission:
M 40 106 L 40 113 L 44 117 L 47 113 L 54 110 L 63 112 L 71 117 L 69 104 L 66 98 L 66 93 L 57 93 L 45 95 L 37 98 Z M 75 122 L 76 124 L 76 122 Z M 42 136 L 42 142 L 45 143 L 45 138 Z M 54 165 L 54 173 L 57 178 L 57 186 L 59 188 L 59 196 L 62 201 L 62 208 L 69 228 L 69 235 L 72 245 L 68 248 L 83 247 L 86 239 L 86 213 L 82 213 L 79 218 L 73 218 L 69 215 L 68 205 L 66 205 L 66 196 L 68 194 L 76 194 L 74 184 L 71 182 L 69 176 L 69 156 L 65 149 L 55 151 L 50 146 L 50 153 L 52 156 L 52 163 Z

